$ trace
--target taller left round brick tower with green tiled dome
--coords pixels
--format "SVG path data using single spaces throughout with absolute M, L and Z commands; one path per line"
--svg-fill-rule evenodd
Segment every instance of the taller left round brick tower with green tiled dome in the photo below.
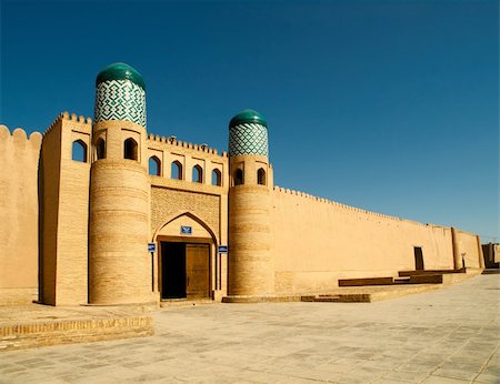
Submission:
M 114 63 L 96 87 L 89 303 L 152 302 L 144 81 L 130 65 Z

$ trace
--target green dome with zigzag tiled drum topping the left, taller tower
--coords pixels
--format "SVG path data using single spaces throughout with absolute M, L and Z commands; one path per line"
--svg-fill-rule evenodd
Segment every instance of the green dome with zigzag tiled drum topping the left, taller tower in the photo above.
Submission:
M 94 122 L 127 120 L 146 127 L 146 83 L 132 67 L 117 62 L 96 79 Z

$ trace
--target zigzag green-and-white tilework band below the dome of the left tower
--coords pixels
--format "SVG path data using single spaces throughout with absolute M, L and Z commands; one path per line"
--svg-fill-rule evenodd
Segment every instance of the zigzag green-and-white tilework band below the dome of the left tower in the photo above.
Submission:
M 146 127 L 146 92 L 130 80 L 101 82 L 96 91 L 96 123 L 127 120 Z

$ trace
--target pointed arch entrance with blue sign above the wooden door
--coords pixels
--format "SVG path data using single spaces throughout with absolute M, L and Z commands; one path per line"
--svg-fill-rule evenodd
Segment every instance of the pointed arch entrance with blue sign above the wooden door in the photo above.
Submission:
M 161 300 L 212 297 L 217 238 L 192 213 L 167 221 L 154 234 L 159 245 L 158 287 Z

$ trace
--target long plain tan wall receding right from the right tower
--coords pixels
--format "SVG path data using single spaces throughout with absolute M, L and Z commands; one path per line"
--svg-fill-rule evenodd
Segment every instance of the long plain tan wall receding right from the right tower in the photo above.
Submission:
M 338 279 L 453 269 L 451 230 L 276 188 L 272 226 L 277 293 L 327 292 Z M 469 244 L 470 246 L 470 244 Z

